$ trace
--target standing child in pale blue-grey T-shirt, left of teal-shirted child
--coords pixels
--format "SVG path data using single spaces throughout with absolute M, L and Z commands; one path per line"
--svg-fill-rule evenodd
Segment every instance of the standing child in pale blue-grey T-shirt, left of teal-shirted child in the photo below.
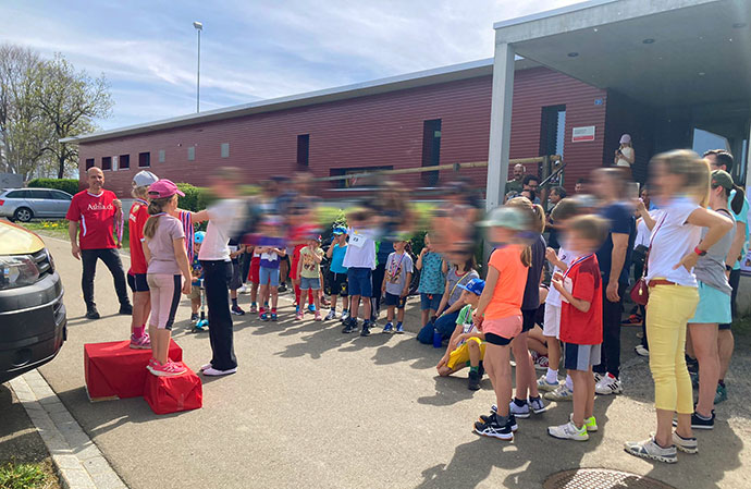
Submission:
M 409 294 L 409 283 L 413 279 L 413 258 L 406 253 L 405 241 L 394 242 L 394 252 L 386 259 L 386 268 L 383 274 L 383 285 L 381 292 L 386 296 L 386 326 L 383 327 L 384 333 L 404 332 L 404 307 L 407 305 Z M 394 308 L 396 313 L 396 329 L 394 329 Z

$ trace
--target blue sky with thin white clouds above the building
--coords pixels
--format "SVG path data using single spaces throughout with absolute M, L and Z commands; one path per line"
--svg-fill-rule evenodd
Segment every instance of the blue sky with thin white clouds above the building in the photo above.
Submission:
M 0 44 L 107 77 L 115 129 L 493 56 L 493 23 L 577 0 L 1 0 Z

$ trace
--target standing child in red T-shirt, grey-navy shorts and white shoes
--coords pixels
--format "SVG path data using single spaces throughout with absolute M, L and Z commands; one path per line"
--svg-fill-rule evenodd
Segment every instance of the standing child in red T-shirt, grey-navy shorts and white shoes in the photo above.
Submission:
M 574 381 L 574 413 L 570 421 L 551 426 L 547 433 L 564 440 L 587 441 L 596 431 L 594 419 L 594 374 L 602 345 L 602 278 L 594 252 L 607 236 L 608 224 L 596 216 L 574 218 L 566 247 L 577 256 L 565 273 L 556 273 L 552 284 L 561 293 L 561 340 L 564 367 Z

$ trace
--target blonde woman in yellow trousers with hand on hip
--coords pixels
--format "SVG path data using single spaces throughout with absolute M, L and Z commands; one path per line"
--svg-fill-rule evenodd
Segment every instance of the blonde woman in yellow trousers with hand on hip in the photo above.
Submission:
M 647 335 L 657 430 L 653 437 L 627 442 L 624 448 L 631 455 L 675 463 L 676 449 L 687 453 L 699 450 L 691 431 L 693 396 L 685 356 L 686 325 L 699 303 L 693 269 L 699 257 L 706 256 L 707 249 L 732 229 L 732 221 L 703 207 L 709 200 L 710 169 L 695 152 L 664 152 L 652 158 L 650 168 L 651 188 L 660 208 L 656 219 L 644 216 L 652 229 Z M 703 237 L 702 228 L 707 228 Z

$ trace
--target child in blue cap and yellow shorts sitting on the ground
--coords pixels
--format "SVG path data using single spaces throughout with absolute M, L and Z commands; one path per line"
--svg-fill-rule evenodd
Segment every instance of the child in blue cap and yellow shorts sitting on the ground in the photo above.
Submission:
M 466 305 L 459 310 L 456 329 L 448 340 L 446 354 L 443 355 L 435 368 L 438 368 L 441 377 L 446 377 L 464 367 L 469 367 L 467 389 L 477 391 L 480 389 L 480 380 L 482 380 L 480 362 L 482 362 L 485 353 L 485 335 L 475 327 L 472 313 L 480 302 L 485 281 L 472 279 L 467 285 L 458 284 L 457 286 L 464 290 L 459 301 Z

